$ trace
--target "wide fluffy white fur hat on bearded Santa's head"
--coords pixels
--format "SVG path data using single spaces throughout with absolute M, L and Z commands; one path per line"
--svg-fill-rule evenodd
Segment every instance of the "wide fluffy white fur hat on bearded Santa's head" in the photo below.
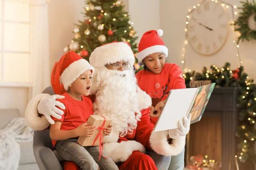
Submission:
M 135 58 L 128 42 L 111 42 L 97 47 L 90 55 L 90 64 L 95 68 L 118 61 L 127 61 L 134 65 Z

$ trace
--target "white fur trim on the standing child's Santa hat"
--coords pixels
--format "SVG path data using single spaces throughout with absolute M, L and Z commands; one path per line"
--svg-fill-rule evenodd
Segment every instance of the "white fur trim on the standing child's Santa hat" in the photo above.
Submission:
M 144 49 L 143 51 L 140 51 L 136 57 L 139 60 L 139 62 L 142 62 L 142 60 L 145 57 L 147 57 L 150 54 L 154 54 L 154 53 L 163 53 L 167 57 L 168 56 L 168 48 L 165 45 L 154 45 L 154 46 Z

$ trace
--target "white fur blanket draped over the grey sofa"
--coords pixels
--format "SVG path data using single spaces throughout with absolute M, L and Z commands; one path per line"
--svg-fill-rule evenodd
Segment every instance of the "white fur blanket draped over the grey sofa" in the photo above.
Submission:
M 33 130 L 23 117 L 12 119 L 0 130 L 0 170 L 17 170 L 20 162 L 18 142 L 33 140 Z

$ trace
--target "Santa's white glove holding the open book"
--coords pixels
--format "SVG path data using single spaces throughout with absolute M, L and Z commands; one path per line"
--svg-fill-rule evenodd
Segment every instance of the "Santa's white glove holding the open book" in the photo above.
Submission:
M 170 129 L 169 130 L 169 136 L 172 139 L 177 139 L 180 136 L 186 136 L 186 134 L 189 133 L 190 129 L 190 121 L 191 121 L 191 113 L 189 113 L 189 116 L 183 117 L 184 124 L 182 124 L 182 121 L 180 120 L 178 122 L 179 128 L 178 129 Z

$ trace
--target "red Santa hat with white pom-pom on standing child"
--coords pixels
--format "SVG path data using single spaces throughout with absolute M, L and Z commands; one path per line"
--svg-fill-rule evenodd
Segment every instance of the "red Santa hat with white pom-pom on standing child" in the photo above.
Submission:
M 168 56 L 168 48 L 164 45 L 163 40 L 160 38 L 163 35 L 163 30 L 158 29 L 147 31 L 141 37 L 137 59 L 139 62 L 150 54 L 163 53 L 165 57 Z

